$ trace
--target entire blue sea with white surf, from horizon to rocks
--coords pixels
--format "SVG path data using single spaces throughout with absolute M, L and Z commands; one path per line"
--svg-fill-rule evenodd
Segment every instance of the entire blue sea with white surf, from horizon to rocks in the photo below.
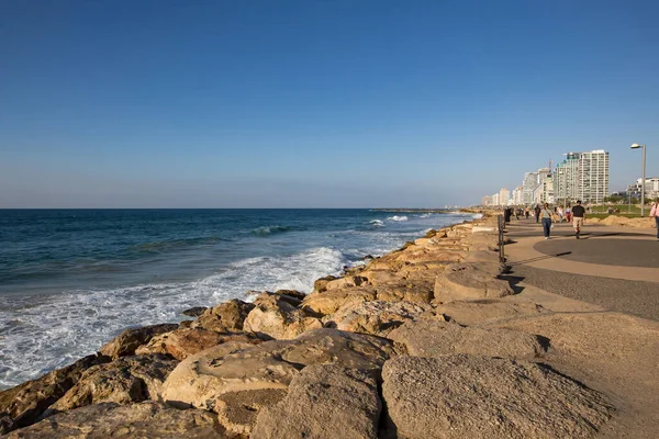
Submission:
M 469 214 L 369 210 L 0 210 L 0 389 L 127 327 L 340 273 Z

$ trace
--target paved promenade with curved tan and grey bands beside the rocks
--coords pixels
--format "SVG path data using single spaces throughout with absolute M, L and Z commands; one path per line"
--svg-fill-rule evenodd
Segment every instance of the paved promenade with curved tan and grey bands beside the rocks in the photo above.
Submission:
M 534 218 L 506 226 L 511 278 L 518 291 L 539 289 L 597 308 L 659 319 L 659 241 L 656 229 L 556 224 L 545 240 Z

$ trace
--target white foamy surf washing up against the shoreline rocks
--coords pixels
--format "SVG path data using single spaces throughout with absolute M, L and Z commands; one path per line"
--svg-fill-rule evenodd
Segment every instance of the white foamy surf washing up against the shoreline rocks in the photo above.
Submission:
M 213 306 L 248 290 L 309 292 L 323 275 L 338 274 L 348 260 L 321 247 L 286 258 L 249 258 L 222 272 L 187 283 L 154 283 L 113 290 L 80 290 L 45 301 L 3 297 L 0 303 L 0 389 L 96 352 L 131 326 L 178 323 L 181 311 Z M 253 297 L 252 297 L 253 299 Z

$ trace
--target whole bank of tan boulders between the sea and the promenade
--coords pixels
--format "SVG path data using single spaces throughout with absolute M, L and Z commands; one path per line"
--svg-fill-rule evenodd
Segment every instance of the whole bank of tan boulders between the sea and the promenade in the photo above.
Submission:
M 0 392 L 0 434 L 592 437 L 615 398 L 554 361 L 572 354 L 555 325 L 579 317 L 510 300 L 495 227 L 487 214 L 319 279 L 310 294 L 263 292 L 179 325 L 125 330 Z

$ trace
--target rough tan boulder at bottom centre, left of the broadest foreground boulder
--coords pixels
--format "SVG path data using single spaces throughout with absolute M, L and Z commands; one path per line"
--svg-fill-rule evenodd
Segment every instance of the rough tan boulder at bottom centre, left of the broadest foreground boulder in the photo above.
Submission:
M 264 408 L 252 439 L 377 439 L 381 402 L 375 378 L 336 364 L 316 364 L 293 379 L 283 401 Z M 286 421 L 282 421 L 286 419 Z

